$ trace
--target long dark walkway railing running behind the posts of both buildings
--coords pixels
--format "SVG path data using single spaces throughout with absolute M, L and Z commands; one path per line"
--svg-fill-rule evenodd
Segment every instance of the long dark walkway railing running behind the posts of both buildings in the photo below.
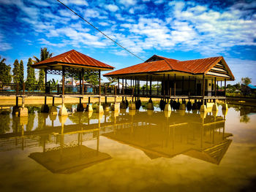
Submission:
M 99 86 L 97 85 L 65 85 L 64 94 L 72 95 L 99 95 Z M 62 85 L 39 85 L 39 84 L 27 84 L 27 83 L 0 83 L 0 94 L 13 95 L 13 94 L 62 94 Z M 127 96 L 202 96 L 200 91 L 181 91 L 181 89 L 170 89 L 163 93 L 161 88 L 152 88 L 146 90 L 140 88 L 118 88 L 115 86 L 101 86 L 100 94 L 105 95 L 127 95 Z M 204 96 L 215 96 L 215 91 L 205 91 Z M 225 91 L 217 91 L 217 96 L 225 96 Z

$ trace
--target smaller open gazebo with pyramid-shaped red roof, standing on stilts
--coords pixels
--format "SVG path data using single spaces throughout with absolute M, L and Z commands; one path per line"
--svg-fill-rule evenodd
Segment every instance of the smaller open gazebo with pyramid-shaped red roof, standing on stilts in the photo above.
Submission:
M 108 64 L 104 64 L 101 61 L 98 61 L 94 58 L 89 57 L 88 55 L 84 55 L 83 53 L 79 53 L 76 50 L 69 50 L 66 53 L 62 53 L 60 55 L 56 55 L 52 58 L 48 58 L 45 61 L 41 61 L 37 64 L 33 64 L 32 67 L 36 69 L 43 69 L 45 71 L 45 105 L 43 108 L 44 112 L 48 111 L 48 106 L 46 104 L 46 97 L 52 96 L 53 97 L 53 106 L 54 106 L 54 97 L 61 96 L 62 97 L 62 107 L 64 107 L 64 95 L 65 95 L 65 76 L 74 77 L 78 76 L 80 79 L 80 91 L 79 93 L 71 93 L 71 96 L 75 95 L 76 97 L 81 99 L 84 95 L 84 73 L 87 71 L 90 72 L 98 72 L 99 74 L 99 88 L 94 97 L 99 97 L 100 103 L 100 95 L 101 95 L 101 87 L 100 87 L 100 72 L 101 71 L 108 71 L 113 70 L 114 67 Z M 50 85 L 48 85 L 47 81 L 47 74 L 59 74 L 62 75 L 62 88 L 61 91 L 57 93 L 51 93 Z M 69 93 L 70 95 L 70 93 Z M 80 107 L 83 105 L 80 102 Z M 53 107 L 53 111 L 56 111 Z M 67 112 L 61 110 L 60 112 Z M 61 113 L 62 114 L 62 113 Z

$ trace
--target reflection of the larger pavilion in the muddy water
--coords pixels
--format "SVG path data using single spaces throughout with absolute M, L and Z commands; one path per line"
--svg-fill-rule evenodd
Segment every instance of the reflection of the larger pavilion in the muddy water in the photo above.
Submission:
M 225 133 L 225 120 L 218 116 L 173 112 L 169 118 L 155 113 L 144 118 L 146 112 L 132 116 L 129 125 L 118 126 L 105 137 L 143 150 L 149 158 L 172 158 L 189 155 L 219 164 L 232 140 Z

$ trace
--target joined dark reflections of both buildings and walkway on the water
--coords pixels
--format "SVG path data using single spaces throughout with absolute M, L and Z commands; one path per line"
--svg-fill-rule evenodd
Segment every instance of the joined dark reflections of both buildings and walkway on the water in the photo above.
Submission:
M 99 151 L 100 135 L 142 150 L 151 160 L 183 154 L 212 164 L 222 161 L 232 141 L 228 139 L 232 134 L 225 132 L 226 111 L 218 116 L 217 112 L 121 110 L 74 112 L 67 117 L 31 111 L 27 118 L 0 116 L 4 122 L 0 151 L 39 147 L 29 157 L 53 173 L 78 172 L 110 159 Z M 87 147 L 91 140 L 96 146 Z

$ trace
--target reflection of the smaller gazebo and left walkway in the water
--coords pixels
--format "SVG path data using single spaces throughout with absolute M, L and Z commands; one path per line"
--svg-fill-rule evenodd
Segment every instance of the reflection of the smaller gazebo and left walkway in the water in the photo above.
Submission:
M 54 120 L 56 116 L 50 118 Z M 107 153 L 99 152 L 100 123 L 94 124 L 93 127 L 72 125 L 66 128 L 64 122 L 67 116 L 59 116 L 59 118 L 61 126 L 52 124 L 52 126 L 44 126 L 42 130 L 28 131 L 28 133 L 24 131 L 24 122 L 20 122 L 20 131 L 1 135 L 1 144 L 4 145 L 0 146 L 0 151 L 19 148 L 23 150 L 26 147 L 41 145 L 42 152 L 31 153 L 29 157 L 45 166 L 50 172 L 64 174 L 78 172 L 111 158 Z M 16 124 L 18 125 L 18 122 Z M 16 142 L 18 140 L 21 142 Z M 28 142 L 32 140 L 29 145 Z M 83 145 L 87 140 L 97 140 L 96 149 Z

